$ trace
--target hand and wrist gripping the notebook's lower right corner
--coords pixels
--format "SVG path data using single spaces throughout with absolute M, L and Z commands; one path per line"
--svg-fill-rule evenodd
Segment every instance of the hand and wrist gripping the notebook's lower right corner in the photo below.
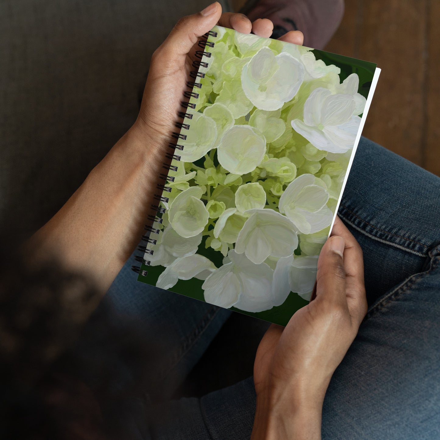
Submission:
M 362 250 L 338 217 L 319 255 L 316 279 L 316 298 L 285 328 L 272 324 L 258 347 L 253 440 L 304 433 L 320 438 L 330 378 L 367 313 Z

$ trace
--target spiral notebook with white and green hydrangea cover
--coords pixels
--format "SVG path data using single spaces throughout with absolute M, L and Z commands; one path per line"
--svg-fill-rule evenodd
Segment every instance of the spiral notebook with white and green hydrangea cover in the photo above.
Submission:
M 286 325 L 310 299 L 380 69 L 220 26 L 198 45 L 132 269 Z

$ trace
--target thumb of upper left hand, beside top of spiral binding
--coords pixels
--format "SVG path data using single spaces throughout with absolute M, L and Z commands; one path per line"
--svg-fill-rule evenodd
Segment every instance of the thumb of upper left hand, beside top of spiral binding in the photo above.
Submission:
M 211 30 L 219 21 L 220 16 L 221 5 L 215 2 L 197 14 L 180 18 L 161 44 L 161 52 L 169 60 L 172 59 L 176 63 L 183 62 L 198 38 Z

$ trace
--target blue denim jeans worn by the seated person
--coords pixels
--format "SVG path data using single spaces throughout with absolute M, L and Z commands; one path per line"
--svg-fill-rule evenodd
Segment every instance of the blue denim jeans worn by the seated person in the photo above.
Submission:
M 326 392 L 323 439 L 440 438 L 440 179 L 362 138 L 338 215 L 363 249 L 369 309 Z M 131 264 L 104 302 L 166 352 L 118 409 L 125 438 L 249 439 L 252 377 L 167 400 L 231 312 L 136 282 Z

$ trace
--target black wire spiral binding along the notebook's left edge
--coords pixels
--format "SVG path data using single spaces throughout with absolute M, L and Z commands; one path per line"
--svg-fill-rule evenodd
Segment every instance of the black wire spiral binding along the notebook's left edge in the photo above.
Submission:
M 201 51 L 196 51 L 195 52 L 195 56 L 199 59 L 202 59 L 203 57 L 206 58 L 211 58 L 211 52 L 207 52 L 205 49 L 207 47 L 209 48 L 213 48 L 214 44 L 212 41 L 208 41 L 209 37 L 217 37 L 217 33 L 215 31 L 210 30 L 209 32 L 205 33 L 205 35 L 203 36 L 205 37 L 205 40 L 199 40 L 197 45 L 199 48 L 201 48 Z M 205 77 L 205 73 L 199 72 L 198 70 L 200 69 L 200 67 L 203 68 L 207 68 L 209 66 L 209 64 L 205 61 L 199 61 L 199 60 L 194 60 L 192 62 L 192 66 L 194 67 L 194 69 L 197 70 L 191 70 L 190 72 L 190 77 L 197 80 L 198 78 L 204 78 Z M 202 83 L 200 82 L 196 82 L 196 81 L 187 81 L 187 87 L 191 88 L 191 91 L 185 91 L 183 93 L 183 95 L 185 96 L 185 98 L 191 99 L 198 99 L 199 94 L 197 92 L 194 92 L 194 89 L 201 89 L 202 88 Z M 194 103 L 190 103 L 190 102 L 186 102 L 186 101 L 182 101 L 181 105 L 184 109 L 195 109 L 196 105 Z M 183 119 L 187 118 L 187 119 L 192 119 L 193 114 L 192 113 L 187 113 L 186 111 L 180 111 L 178 113 L 178 117 L 181 117 Z M 177 128 L 180 128 L 180 130 L 189 130 L 190 128 L 190 124 L 184 124 L 183 122 L 176 122 L 175 126 Z M 181 139 L 181 140 L 186 140 L 187 139 L 187 135 L 180 133 L 180 132 L 172 132 L 172 137 L 175 139 Z M 168 145 L 170 148 L 173 149 L 173 152 L 171 153 L 167 153 L 165 154 L 165 157 L 169 160 L 175 160 L 175 161 L 180 161 L 180 156 L 178 154 L 175 154 L 176 150 L 180 150 L 182 151 L 184 146 L 181 143 L 175 143 L 175 142 L 170 142 Z M 164 162 L 162 165 L 162 168 L 165 168 L 168 171 L 177 171 L 178 167 L 176 165 L 171 165 L 169 162 Z M 159 175 L 159 178 L 164 180 L 165 183 L 167 181 L 169 182 L 174 182 L 174 177 L 169 176 L 168 174 L 164 174 L 161 173 Z M 141 237 L 141 239 L 146 242 L 147 244 L 152 244 L 155 245 L 157 243 L 157 239 L 156 238 L 151 238 L 150 235 L 151 234 L 159 234 L 160 233 L 160 229 L 158 229 L 157 227 L 154 227 L 154 223 L 158 223 L 158 224 L 162 224 L 162 218 L 159 216 L 160 214 L 164 214 L 166 209 L 162 206 L 160 206 L 160 203 L 164 203 L 167 204 L 169 201 L 169 198 L 166 197 L 165 195 L 163 195 L 164 192 L 170 192 L 172 190 L 171 187 L 166 186 L 166 184 L 163 183 L 158 183 L 156 188 L 158 190 L 162 191 L 162 194 L 154 194 L 154 200 L 157 200 L 159 202 L 158 205 L 152 204 L 150 207 L 151 209 L 153 209 L 156 212 L 156 215 L 148 215 L 148 220 L 153 224 L 153 226 L 151 224 L 146 224 L 144 226 L 145 231 L 147 231 L 147 234 L 143 235 Z M 137 250 L 139 252 L 143 252 L 143 254 L 148 254 L 148 255 L 153 255 L 154 250 L 153 249 L 149 249 L 147 246 L 142 246 L 139 245 Z M 150 260 L 145 260 L 144 257 L 141 256 L 136 256 L 135 260 L 141 264 L 144 264 L 146 266 L 149 266 L 151 261 Z M 139 275 L 143 275 L 146 276 L 147 275 L 147 271 L 145 269 L 142 269 L 139 266 L 132 266 L 132 271 L 135 271 L 136 273 L 138 273 Z

